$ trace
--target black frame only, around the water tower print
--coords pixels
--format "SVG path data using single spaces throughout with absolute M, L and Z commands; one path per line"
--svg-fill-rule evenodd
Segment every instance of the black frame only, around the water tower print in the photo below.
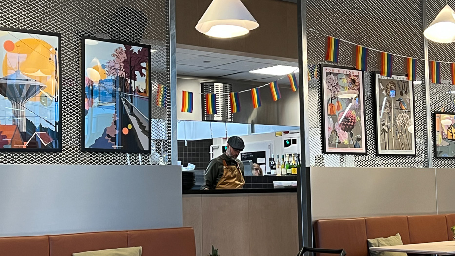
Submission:
M 57 128 L 58 128 L 58 139 L 59 139 L 59 146 L 57 148 L 50 148 L 50 149 L 31 149 L 31 148 L 0 148 L 0 152 L 62 152 L 62 129 L 61 129 L 61 113 L 62 113 L 62 95 L 61 95 L 61 34 L 60 33 L 54 33 L 54 32 L 47 32 L 47 31 L 38 31 L 38 30 L 26 30 L 26 29 L 15 29 L 15 28 L 5 28 L 5 27 L 0 27 L 0 31 L 8 31 L 8 32 L 16 32 L 16 33 L 24 33 L 24 34 L 36 34 L 36 35 L 43 35 L 43 36 L 52 36 L 52 37 L 57 37 L 59 40 L 59 45 L 58 45 L 58 53 L 59 56 L 57 58 L 58 61 L 58 92 L 59 92 L 59 120 L 57 123 Z

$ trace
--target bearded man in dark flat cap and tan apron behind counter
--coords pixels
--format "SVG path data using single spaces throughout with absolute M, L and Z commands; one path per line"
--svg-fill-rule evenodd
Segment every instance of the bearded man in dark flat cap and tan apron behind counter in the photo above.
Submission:
M 244 148 L 240 137 L 228 139 L 226 152 L 213 158 L 205 171 L 205 189 L 237 189 L 245 185 L 243 163 L 237 159 Z

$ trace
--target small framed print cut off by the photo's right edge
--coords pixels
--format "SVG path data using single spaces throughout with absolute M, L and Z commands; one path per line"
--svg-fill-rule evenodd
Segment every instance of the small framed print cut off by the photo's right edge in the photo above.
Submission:
M 455 158 L 455 113 L 435 112 L 435 158 Z

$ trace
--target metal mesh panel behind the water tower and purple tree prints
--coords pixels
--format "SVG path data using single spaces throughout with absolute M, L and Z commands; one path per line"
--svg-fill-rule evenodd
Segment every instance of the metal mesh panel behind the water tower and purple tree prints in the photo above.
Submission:
M 62 34 L 61 153 L 1 153 L 2 164 L 170 164 L 169 6 L 167 0 L 2 0 L 0 27 Z M 152 154 L 81 152 L 81 37 L 143 43 L 152 53 L 152 99 L 167 87 L 165 107 L 152 100 Z

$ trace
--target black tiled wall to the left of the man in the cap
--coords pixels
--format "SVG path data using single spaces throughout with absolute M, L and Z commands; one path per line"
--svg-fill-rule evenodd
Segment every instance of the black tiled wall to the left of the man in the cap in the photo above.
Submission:
M 177 159 L 182 161 L 183 166 L 188 163 L 196 165 L 196 170 L 205 170 L 210 162 L 210 146 L 213 144 L 212 139 L 187 141 L 185 146 L 184 140 L 177 141 Z

